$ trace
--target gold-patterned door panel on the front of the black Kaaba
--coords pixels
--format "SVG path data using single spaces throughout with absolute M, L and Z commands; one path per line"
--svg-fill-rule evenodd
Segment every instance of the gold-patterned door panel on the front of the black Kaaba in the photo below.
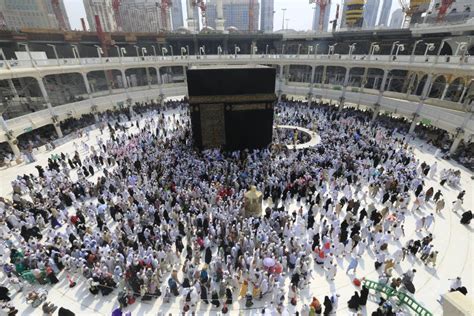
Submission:
M 220 148 L 225 145 L 224 105 L 201 105 L 201 139 L 204 149 Z

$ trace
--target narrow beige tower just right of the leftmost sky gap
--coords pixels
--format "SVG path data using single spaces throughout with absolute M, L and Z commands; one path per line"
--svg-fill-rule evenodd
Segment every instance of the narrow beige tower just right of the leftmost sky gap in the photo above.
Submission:
M 100 24 L 104 32 L 118 30 L 117 21 L 112 7 L 112 0 L 84 0 L 89 29 L 96 31 L 95 16 L 99 16 Z

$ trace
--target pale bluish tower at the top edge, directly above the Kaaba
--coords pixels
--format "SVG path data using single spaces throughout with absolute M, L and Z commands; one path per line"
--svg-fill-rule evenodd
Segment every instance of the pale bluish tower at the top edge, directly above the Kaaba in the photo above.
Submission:
M 249 30 L 249 11 L 251 7 L 250 0 L 222 0 L 224 10 L 224 26 L 236 27 L 241 31 Z M 210 27 L 216 27 L 216 0 L 209 0 L 206 3 L 207 10 L 207 25 Z M 272 11 L 273 14 L 273 11 Z M 258 29 L 258 17 L 260 15 L 260 4 L 258 1 L 254 1 L 253 5 L 253 25 L 255 29 Z

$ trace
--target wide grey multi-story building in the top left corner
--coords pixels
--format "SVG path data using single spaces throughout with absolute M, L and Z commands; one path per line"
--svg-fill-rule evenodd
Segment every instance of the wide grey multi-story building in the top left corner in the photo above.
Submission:
M 63 0 L 53 7 L 50 0 L 0 1 L 0 29 L 22 28 L 70 30 Z

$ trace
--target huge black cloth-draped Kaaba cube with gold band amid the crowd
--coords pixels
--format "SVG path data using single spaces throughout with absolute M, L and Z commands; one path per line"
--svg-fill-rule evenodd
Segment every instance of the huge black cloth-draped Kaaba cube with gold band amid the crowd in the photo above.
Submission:
M 191 68 L 186 74 L 197 148 L 235 151 L 270 145 L 274 68 Z

